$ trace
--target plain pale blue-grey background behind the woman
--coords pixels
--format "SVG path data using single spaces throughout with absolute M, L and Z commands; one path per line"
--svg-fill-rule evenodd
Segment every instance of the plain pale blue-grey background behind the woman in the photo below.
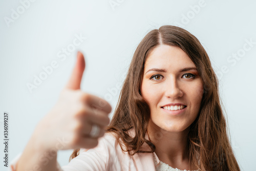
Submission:
M 27 8 L 20 7 L 21 2 L 0 2 L 0 137 L 3 140 L 3 114 L 8 112 L 10 160 L 23 151 L 35 125 L 55 104 L 78 50 L 86 57 L 81 89 L 108 100 L 114 109 L 118 84 L 140 40 L 152 29 L 176 25 L 194 34 L 210 56 L 220 79 L 232 148 L 242 170 L 254 169 L 255 1 L 46 0 L 29 1 Z M 19 17 L 12 16 L 12 10 L 19 10 Z M 12 22 L 7 24 L 7 18 Z M 72 48 L 75 35 L 87 38 L 65 60 L 59 58 L 62 48 Z M 241 57 L 235 59 L 235 54 Z M 58 67 L 30 92 L 27 84 L 52 61 Z M 3 149 L 1 143 L 1 158 Z M 68 163 L 71 152 L 58 152 L 60 165 Z M 7 170 L 2 160 L 0 165 Z

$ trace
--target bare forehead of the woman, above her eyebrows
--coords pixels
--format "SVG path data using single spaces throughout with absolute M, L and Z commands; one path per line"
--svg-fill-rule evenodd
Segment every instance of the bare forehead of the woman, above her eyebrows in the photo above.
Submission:
M 160 45 L 155 48 L 145 61 L 144 68 L 180 69 L 195 67 L 195 63 L 179 47 Z

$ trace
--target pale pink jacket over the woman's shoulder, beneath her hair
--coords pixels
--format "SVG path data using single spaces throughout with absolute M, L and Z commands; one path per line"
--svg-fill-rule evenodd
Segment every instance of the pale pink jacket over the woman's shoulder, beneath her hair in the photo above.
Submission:
M 99 170 L 152 170 L 152 168 L 155 168 L 152 153 L 136 153 L 130 156 L 128 152 L 125 152 L 125 145 L 120 139 L 118 141 L 118 137 L 116 137 L 116 133 L 105 133 L 103 137 L 99 138 L 96 147 L 91 149 L 81 148 L 77 161 L 82 161 L 90 167 L 96 163 L 96 165 L 99 165 L 98 168 L 102 168 Z M 73 165 L 76 165 L 76 163 L 73 163 Z M 87 167 L 84 166 L 83 168 Z

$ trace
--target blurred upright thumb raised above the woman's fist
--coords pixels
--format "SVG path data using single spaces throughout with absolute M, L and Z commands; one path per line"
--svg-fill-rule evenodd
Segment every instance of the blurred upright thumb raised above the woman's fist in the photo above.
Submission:
M 81 52 L 77 52 L 76 65 L 67 83 L 67 86 L 66 86 L 67 89 L 72 89 L 72 90 L 80 89 L 80 83 L 82 80 L 82 74 L 83 74 L 84 68 L 86 68 L 86 62 L 84 61 L 83 54 Z

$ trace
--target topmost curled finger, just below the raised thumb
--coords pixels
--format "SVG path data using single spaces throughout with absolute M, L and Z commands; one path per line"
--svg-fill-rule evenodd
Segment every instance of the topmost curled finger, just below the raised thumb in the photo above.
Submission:
M 89 106 L 96 108 L 98 110 L 104 111 L 108 114 L 112 110 L 111 105 L 110 105 L 110 103 L 108 103 L 108 101 L 106 101 L 98 96 L 92 95 L 92 94 L 84 93 L 81 96 L 81 100 L 84 103 L 88 104 Z

